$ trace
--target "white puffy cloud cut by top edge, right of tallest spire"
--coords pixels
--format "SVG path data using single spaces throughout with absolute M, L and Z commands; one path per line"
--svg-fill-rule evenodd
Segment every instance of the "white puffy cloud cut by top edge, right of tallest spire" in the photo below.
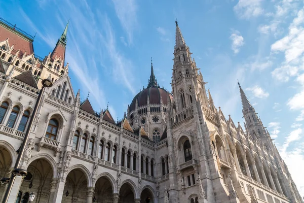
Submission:
M 234 11 L 240 18 L 249 19 L 256 17 L 263 13 L 261 2 L 262 0 L 239 0 L 238 4 L 234 7 Z

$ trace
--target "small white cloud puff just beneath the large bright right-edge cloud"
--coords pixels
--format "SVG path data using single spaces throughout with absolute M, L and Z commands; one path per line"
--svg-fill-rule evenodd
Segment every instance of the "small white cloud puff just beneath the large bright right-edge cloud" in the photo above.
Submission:
M 297 66 L 282 65 L 277 67 L 271 74 L 272 77 L 281 82 L 287 82 L 289 77 L 295 76 L 298 72 Z

